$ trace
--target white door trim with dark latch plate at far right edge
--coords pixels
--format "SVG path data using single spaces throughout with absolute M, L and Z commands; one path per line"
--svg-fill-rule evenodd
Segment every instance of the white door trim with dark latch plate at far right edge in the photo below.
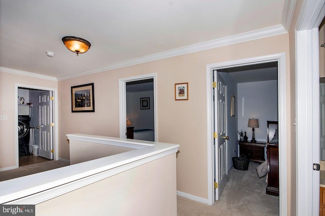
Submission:
M 296 215 L 319 214 L 319 42 L 325 1 L 306 0 L 296 25 Z

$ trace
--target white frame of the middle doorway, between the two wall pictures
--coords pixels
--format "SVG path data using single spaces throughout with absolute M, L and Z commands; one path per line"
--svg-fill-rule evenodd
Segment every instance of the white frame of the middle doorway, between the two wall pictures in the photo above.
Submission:
M 154 112 L 154 141 L 157 142 L 157 89 L 156 89 L 156 73 L 142 74 L 138 76 L 130 76 L 119 79 L 119 110 L 120 110 L 120 138 L 126 138 L 126 82 L 153 79 L 153 112 Z

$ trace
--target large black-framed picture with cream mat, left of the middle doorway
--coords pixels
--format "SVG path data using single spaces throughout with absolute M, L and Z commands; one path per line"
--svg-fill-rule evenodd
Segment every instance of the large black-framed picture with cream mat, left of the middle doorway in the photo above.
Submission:
M 93 83 L 71 87 L 71 111 L 94 112 Z

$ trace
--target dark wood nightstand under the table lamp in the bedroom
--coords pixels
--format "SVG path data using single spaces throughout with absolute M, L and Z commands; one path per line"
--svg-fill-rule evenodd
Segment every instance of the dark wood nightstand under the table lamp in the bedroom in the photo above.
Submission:
M 249 160 L 262 163 L 265 161 L 265 146 L 264 142 L 238 142 L 239 155 L 245 155 Z

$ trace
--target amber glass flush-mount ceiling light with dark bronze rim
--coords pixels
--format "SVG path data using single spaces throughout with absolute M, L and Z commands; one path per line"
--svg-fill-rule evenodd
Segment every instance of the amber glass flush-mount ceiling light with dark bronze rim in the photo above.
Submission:
M 79 53 L 87 52 L 91 46 L 90 42 L 80 37 L 66 36 L 62 37 L 62 41 L 70 51 L 77 53 L 77 56 Z

